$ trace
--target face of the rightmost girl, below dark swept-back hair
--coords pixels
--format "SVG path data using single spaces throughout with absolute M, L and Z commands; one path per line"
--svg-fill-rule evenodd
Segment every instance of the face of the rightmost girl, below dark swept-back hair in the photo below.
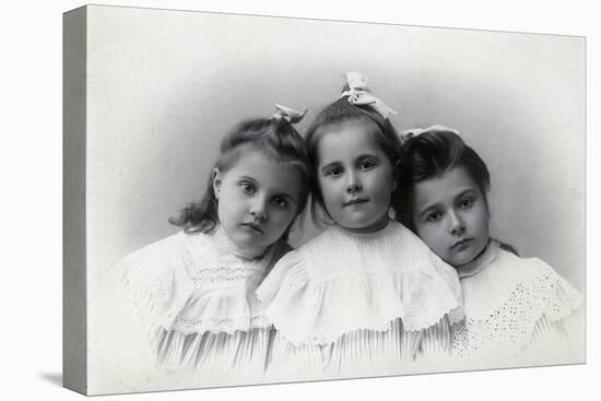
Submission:
M 413 223 L 417 235 L 447 263 L 474 259 L 488 243 L 484 196 L 462 167 L 415 186 Z

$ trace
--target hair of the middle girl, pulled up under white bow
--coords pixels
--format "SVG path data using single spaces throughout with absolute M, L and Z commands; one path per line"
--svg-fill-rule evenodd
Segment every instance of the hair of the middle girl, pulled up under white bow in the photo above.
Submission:
M 345 86 L 343 90 L 346 90 Z M 323 204 L 323 197 L 321 189 L 317 185 L 317 166 L 319 165 L 318 152 L 319 142 L 323 138 L 323 130 L 320 128 L 328 126 L 340 126 L 353 120 L 373 121 L 376 123 L 377 129 L 373 132 L 376 143 L 381 151 L 388 157 L 390 166 L 394 168 L 399 160 L 399 152 L 401 149 L 401 141 L 397 130 L 392 126 L 389 119 L 384 118 L 379 113 L 374 110 L 369 105 L 353 105 L 349 102 L 349 96 L 343 96 L 332 104 L 323 108 L 311 122 L 307 130 L 306 143 L 307 151 L 309 153 L 309 162 L 313 168 L 313 177 L 316 180 L 313 184 L 315 188 L 311 194 L 311 217 L 314 223 L 321 224 L 321 219 L 317 215 L 317 205 L 328 214 L 328 210 Z M 397 191 L 392 192 L 392 199 L 398 194 Z

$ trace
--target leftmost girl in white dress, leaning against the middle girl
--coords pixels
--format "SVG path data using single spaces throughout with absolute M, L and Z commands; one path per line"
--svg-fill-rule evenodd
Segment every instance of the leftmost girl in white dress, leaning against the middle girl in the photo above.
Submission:
M 273 329 L 255 290 L 291 249 L 309 192 L 307 152 L 293 127 L 303 116 L 278 105 L 269 118 L 238 123 L 221 142 L 202 199 L 169 220 L 182 229 L 118 266 L 148 329 L 140 343 L 163 373 L 188 373 L 196 386 L 262 378 Z

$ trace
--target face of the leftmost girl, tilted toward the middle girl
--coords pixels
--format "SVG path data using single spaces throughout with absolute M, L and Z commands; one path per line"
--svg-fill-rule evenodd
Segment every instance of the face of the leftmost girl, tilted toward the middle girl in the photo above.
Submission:
M 226 172 L 213 172 L 221 226 L 243 249 L 266 248 L 282 237 L 300 208 L 300 173 L 261 152 L 240 152 Z

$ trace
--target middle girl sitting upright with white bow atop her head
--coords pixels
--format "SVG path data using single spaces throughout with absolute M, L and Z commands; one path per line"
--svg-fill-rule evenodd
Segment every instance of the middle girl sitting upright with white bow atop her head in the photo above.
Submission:
M 400 190 L 394 111 L 361 74 L 346 81 L 306 135 L 311 214 L 326 229 L 284 256 L 257 291 L 278 329 L 272 370 L 288 365 L 298 375 L 299 355 L 310 355 L 315 377 L 412 371 L 425 330 L 448 333 L 462 319 L 455 270 L 390 219 Z

